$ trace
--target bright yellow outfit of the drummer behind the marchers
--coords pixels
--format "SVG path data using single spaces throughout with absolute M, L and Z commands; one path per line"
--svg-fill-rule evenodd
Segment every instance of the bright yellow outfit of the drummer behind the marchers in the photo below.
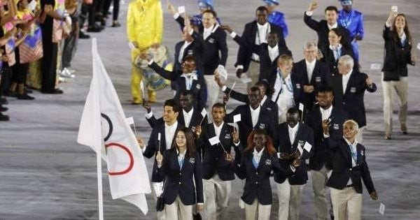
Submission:
M 160 0 L 134 0 L 128 6 L 127 35 L 130 42 L 137 43 L 139 49 L 132 50 L 132 82 L 131 89 L 134 103 L 141 103 L 140 92 L 142 73 L 134 66 L 140 52 L 147 50 L 155 43 L 162 42 L 163 13 Z M 155 91 L 148 91 L 149 101 L 156 101 Z

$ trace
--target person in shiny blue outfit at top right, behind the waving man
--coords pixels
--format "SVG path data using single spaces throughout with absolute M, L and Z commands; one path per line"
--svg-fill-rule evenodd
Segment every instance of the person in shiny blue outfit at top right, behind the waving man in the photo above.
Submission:
M 342 10 L 338 11 L 338 24 L 345 27 L 350 32 L 351 46 L 353 47 L 354 59 L 359 60 L 358 41 L 363 39 L 363 13 L 353 10 L 352 0 L 339 0 Z

